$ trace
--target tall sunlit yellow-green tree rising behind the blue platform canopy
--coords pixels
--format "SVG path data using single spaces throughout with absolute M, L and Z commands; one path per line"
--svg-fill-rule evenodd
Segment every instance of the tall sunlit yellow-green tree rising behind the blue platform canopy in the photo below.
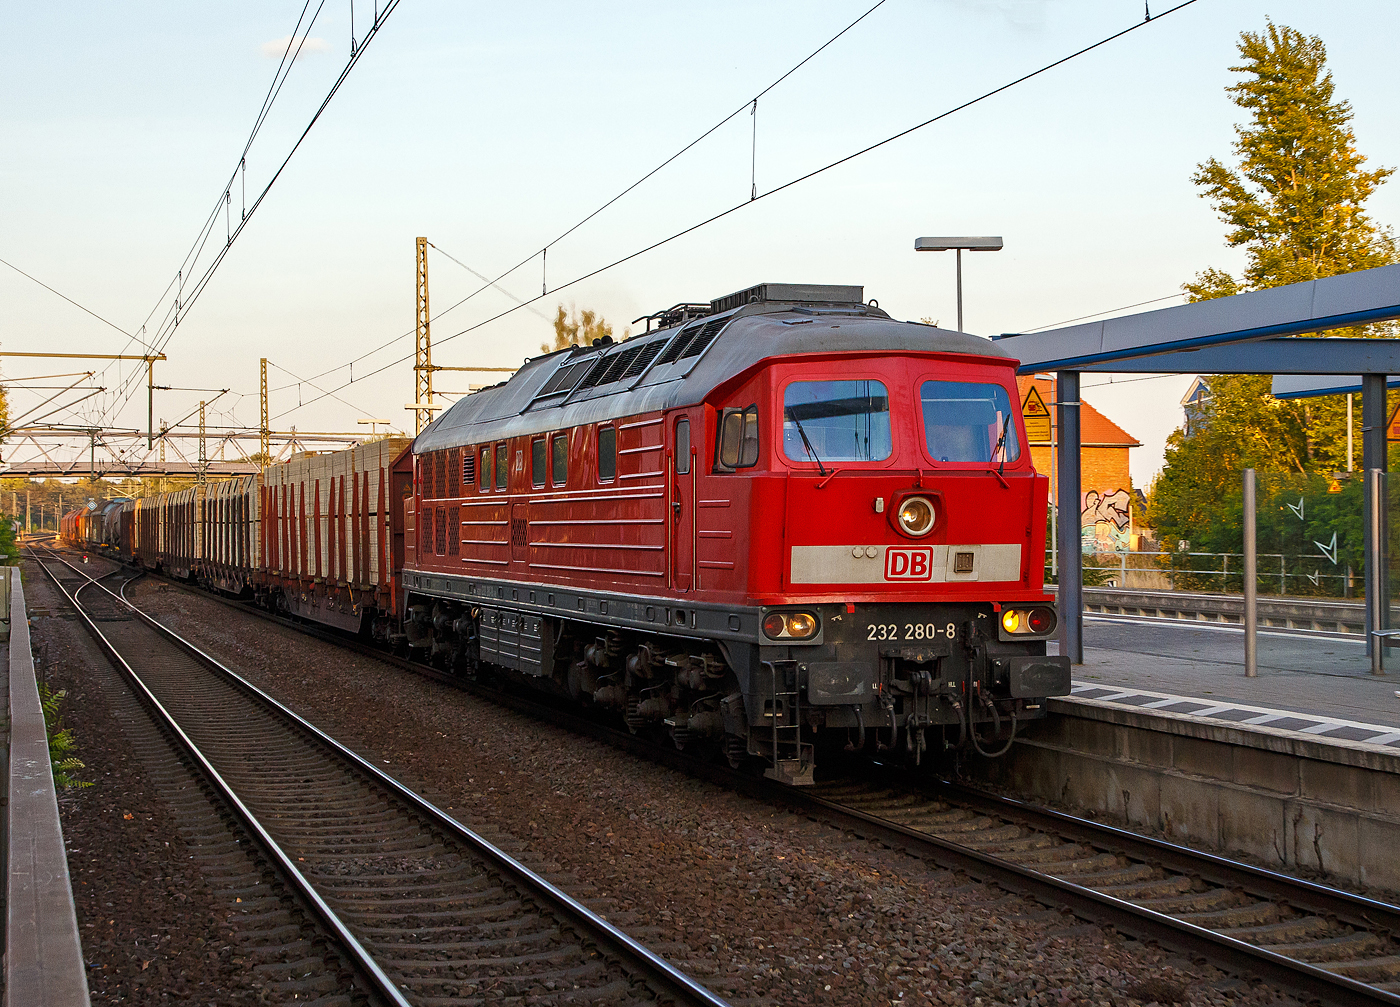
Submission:
M 1249 113 L 1235 127 L 1238 167 L 1212 157 L 1191 181 L 1229 227 L 1226 244 L 1245 249 L 1246 263 L 1239 276 L 1204 269 L 1183 290 L 1201 301 L 1394 262 L 1390 230 L 1364 209 L 1393 168 L 1365 168 L 1351 105 L 1336 97 L 1322 39 L 1268 22 L 1263 32 L 1242 32 L 1239 53 L 1231 69 L 1242 78 L 1226 88 Z M 1275 399 L 1268 375 L 1217 374 L 1210 387 L 1203 430 L 1172 436 L 1152 487 L 1151 520 L 1169 548 L 1193 535 L 1211 538 L 1211 515 L 1229 511 L 1245 468 L 1347 468 L 1344 396 Z

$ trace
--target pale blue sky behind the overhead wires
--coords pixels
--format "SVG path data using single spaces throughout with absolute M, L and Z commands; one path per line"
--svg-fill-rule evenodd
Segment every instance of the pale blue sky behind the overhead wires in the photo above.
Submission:
M 925 234 L 1005 239 L 965 258 L 969 332 L 1165 307 L 1198 270 L 1243 262 L 1190 176 L 1208 157 L 1231 161 L 1242 113 L 1225 94 L 1229 67 L 1239 34 L 1268 18 L 1326 42 L 1359 150 L 1400 164 L 1393 4 L 1197 0 L 1156 17 L 1169 4 L 1151 0 L 1154 21 L 1137 31 L 762 196 L 1144 20 L 1141 0 L 885 0 L 750 115 L 755 95 L 872 3 L 403 0 L 302 137 L 375 7 L 326 0 L 316 13 L 312 0 L 309 38 L 246 158 L 301 4 L 11 8 L 0 259 L 101 318 L 0 266 L 0 352 L 141 353 L 140 340 L 162 340 L 155 380 L 172 389 L 155 394 L 157 419 L 214 399 L 210 424 L 245 426 L 258 424 L 267 357 L 274 429 L 389 419 L 412 430 L 419 235 L 434 245 L 434 312 L 484 286 L 469 270 L 525 263 L 433 322 L 434 363 L 448 366 L 519 364 L 552 338 L 560 305 L 598 311 L 622 335 L 647 312 L 763 282 L 864 284 L 896 318 L 952 328 L 953 256 L 916 254 Z M 1371 200 L 1382 224 L 1400 220 L 1397 185 Z M 550 296 L 519 305 L 546 284 Z M 78 381 L 45 375 L 94 366 L 0 364 L 13 417 Z M 497 377 L 435 381 L 465 391 Z M 1140 487 L 1161 469 L 1190 381 L 1084 378 L 1085 398 L 1142 441 Z M 144 427 L 140 384 L 137 364 L 109 364 L 35 417 L 104 387 L 46 422 Z

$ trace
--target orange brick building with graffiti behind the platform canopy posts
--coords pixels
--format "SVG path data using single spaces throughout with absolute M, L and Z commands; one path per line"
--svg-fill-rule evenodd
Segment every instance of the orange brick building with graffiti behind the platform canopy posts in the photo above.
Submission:
M 1049 374 L 1019 377 L 1021 410 L 1026 417 L 1030 458 L 1037 472 L 1050 476 L 1056 503 L 1054 448 L 1058 443 L 1056 381 Z M 1133 482 L 1128 448 L 1140 443 L 1117 423 L 1079 396 L 1079 528 L 1085 552 L 1126 552 L 1133 548 Z M 1063 514 L 1063 511 L 1061 511 Z

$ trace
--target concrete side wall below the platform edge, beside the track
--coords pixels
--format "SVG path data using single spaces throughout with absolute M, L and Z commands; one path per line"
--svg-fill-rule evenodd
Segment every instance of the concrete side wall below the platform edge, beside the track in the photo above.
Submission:
M 1194 849 L 1400 892 L 1400 752 L 1268 727 L 1050 700 L 974 780 Z

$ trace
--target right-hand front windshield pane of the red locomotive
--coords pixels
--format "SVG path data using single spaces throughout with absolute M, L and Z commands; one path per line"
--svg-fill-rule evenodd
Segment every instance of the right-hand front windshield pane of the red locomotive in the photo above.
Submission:
M 1001 385 L 973 381 L 925 381 L 928 454 L 941 462 L 1012 462 L 1021 457 L 1011 398 Z

